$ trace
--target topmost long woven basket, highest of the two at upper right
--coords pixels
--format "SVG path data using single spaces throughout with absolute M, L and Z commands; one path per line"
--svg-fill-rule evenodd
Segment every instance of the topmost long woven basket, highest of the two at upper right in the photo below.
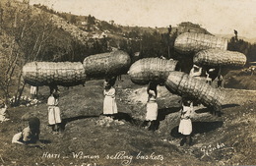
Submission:
M 177 36 L 174 48 L 181 53 L 194 53 L 210 48 L 226 50 L 227 39 L 210 34 L 185 32 Z

